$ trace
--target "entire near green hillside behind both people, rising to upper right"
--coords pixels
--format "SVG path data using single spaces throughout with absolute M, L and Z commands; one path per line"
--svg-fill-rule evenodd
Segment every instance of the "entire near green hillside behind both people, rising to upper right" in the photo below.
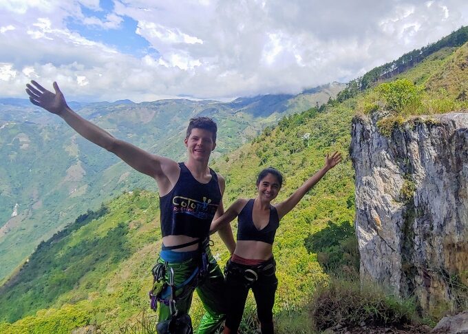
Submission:
M 412 320 L 412 300 L 401 301 L 379 291 L 367 293 L 357 284 L 330 280 L 334 275 L 356 278 L 359 270 L 352 227 L 354 171 L 346 155 L 350 124 L 356 110 L 380 110 L 387 113 L 383 120 L 392 121 L 427 113 L 430 107 L 444 112 L 465 106 L 465 100 L 448 85 L 436 85 L 432 79 L 435 73 L 454 70 L 447 64 L 459 59 L 463 48 L 440 47 L 407 70 L 407 78 L 399 74 L 363 92 L 359 88 L 357 94 L 340 101 L 286 116 L 250 143 L 216 158 L 211 167 L 226 178 L 227 207 L 237 198 L 255 196 L 256 176 L 264 167 L 284 173 L 284 187 L 277 198 L 281 201 L 322 167 L 326 153 L 337 150 L 344 155 L 343 162 L 280 222 L 273 247 L 279 278 L 273 309 L 278 333 L 312 333 L 309 313 L 317 329 L 343 321 Z M 156 194 L 125 192 L 40 244 L 21 271 L 0 288 L 0 332 L 69 333 L 72 328 L 93 326 L 104 333 L 149 333 L 143 327 L 155 322 L 147 291 L 149 270 L 160 247 L 158 210 Z M 213 253 L 223 267 L 228 252 L 219 238 L 214 240 Z M 244 333 L 253 333 L 257 326 L 253 305 L 250 296 L 241 327 Z M 191 314 L 197 326 L 202 315 L 198 298 Z

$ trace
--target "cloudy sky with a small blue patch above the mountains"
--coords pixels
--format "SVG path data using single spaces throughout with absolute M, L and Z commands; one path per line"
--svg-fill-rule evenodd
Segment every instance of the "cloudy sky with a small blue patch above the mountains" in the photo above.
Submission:
M 467 0 L 0 0 L 0 97 L 228 101 L 346 83 L 468 24 Z

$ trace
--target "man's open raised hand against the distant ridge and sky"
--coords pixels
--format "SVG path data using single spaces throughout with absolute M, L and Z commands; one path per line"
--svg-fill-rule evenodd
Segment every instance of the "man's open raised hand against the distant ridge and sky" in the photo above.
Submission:
M 68 107 L 65 96 L 63 96 L 56 82 L 53 84 L 55 94 L 46 90 L 34 80 L 31 83 L 34 87 L 29 83 L 26 84 L 26 93 L 30 96 L 30 101 L 33 105 L 38 105 L 47 110 L 47 112 L 52 112 L 52 114 L 60 114 Z

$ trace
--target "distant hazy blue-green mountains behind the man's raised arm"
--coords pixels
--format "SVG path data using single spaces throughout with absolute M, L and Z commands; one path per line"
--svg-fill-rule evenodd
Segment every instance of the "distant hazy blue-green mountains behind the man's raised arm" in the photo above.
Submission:
M 117 138 L 184 160 L 183 138 L 191 117 L 211 116 L 217 121 L 216 157 L 246 143 L 281 116 L 328 101 L 341 87 L 323 86 L 297 96 L 239 98 L 233 103 L 178 99 L 72 103 L 72 107 Z M 137 187 L 154 191 L 156 182 L 28 100 L 0 102 L 5 103 L 0 103 L 1 284 L 41 240 L 50 238 L 83 211 L 97 209 L 122 191 Z M 12 217 L 14 207 L 18 214 Z

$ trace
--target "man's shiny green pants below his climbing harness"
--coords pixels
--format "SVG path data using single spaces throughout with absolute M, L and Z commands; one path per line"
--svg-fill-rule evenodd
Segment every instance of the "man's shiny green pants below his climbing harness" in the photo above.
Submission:
M 191 252 L 196 254 L 195 256 L 184 261 L 164 261 L 164 256 L 162 251 L 160 258 L 158 258 L 159 263 L 167 263 L 166 274 L 164 276 L 165 282 L 169 283 L 169 272 L 172 268 L 174 271 L 174 284 L 178 285 L 187 280 L 193 271 L 198 267 L 200 262 L 200 255 L 197 252 Z M 177 253 L 169 251 L 172 254 Z M 166 253 L 167 254 L 167 253 Z M 206 254 L 208 255 L 208 269 L 206 277 L 202 278 L 198 285 L 195 287 L 193 282 L 189 282 L 187 285 L 175 291 L 175 300 L 178 313 L 189 313 L 189 309 L 192 302 L 193 291 L 196 290 L 200 300 L 203 303 L 206 313 L 203 315 L 202 320 L 200 321 L 200 326 L 198 326 L 198 333 L 215 333 L 217 328 L 224 320 L 225 317 L 225 302 L 226 294 L 225 285 L 224 285 L 224 276 L 222 275 L 220 267 L 217 265 L 216 260 L 211 254 L 210 248 L 206 247 Z M 177 298 L 178 296 L 183 295 L 181 299 Z M 160 303 L 159 310 L 159 322 L 164 320 L 169 320 L 171 318 L 171 312 L 169 311 L 169 306 L 164 303 Z

